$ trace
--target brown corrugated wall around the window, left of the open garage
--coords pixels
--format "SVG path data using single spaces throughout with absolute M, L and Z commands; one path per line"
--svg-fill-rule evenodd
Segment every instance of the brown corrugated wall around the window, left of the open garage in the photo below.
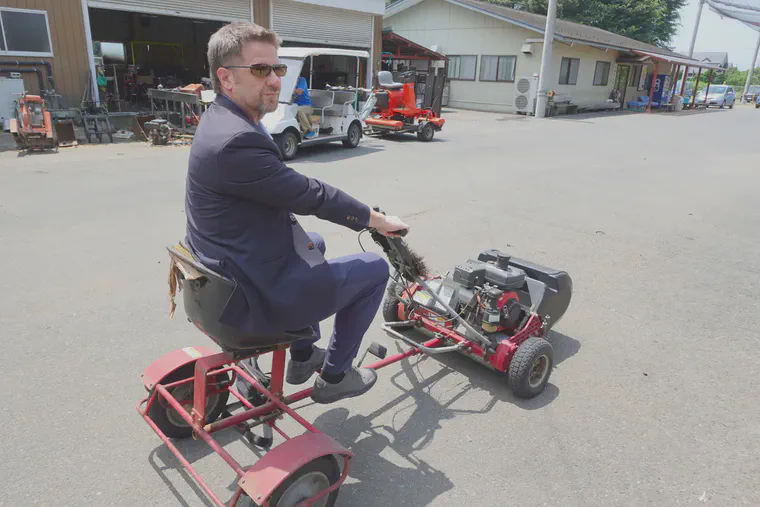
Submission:
M 8 60 L 52 62 L 56 91 L 63 95 L 66 105 L 78 107 L 88 83 L 90 70 L 84 37 L 82 2 L 80 0 L 2 0 L 0 5 L 47 11 L 50 38 L 53 43 L 53 58 L 0 55 L 0 62 Z M 34 74 L 24 74 L 24 84 L 29 93 L 40 93 L 37 77 Z

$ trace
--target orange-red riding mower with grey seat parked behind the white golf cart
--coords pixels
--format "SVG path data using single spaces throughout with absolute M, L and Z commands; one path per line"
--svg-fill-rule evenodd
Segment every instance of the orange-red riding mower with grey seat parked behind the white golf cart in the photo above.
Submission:
M 365 110 L 369 110 L 364 123 L 370 135 L 389 132 L 416 132 L 420 141 L 432 141 L 436 131 L 446 122 L 431 109 L 417 107 L 413 73 L 404 73 L 403 83 L 394 83 L 393 74 L 378 72 L 378 89 L 372 91 Z

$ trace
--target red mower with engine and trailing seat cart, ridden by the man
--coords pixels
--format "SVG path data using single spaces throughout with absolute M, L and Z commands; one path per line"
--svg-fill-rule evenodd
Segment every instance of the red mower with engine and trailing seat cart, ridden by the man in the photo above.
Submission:
M 409 348 L 386 357 L 385 348 L 373 343 L 360 364 L 367 353 L 379 359 L 367 367 L 380 369 L 419 354 L 458 352 L 507 374 L 517 396 L 543 391 L 553 366 L 552 346 L 544 336 L 570 303 L 567 273 L 490 250 L 457 266 L 453 275 L 430 276 L 403 239 L 369 232 L 395 270 L 382 328 Z M 186 347 L 153 362 L 142 374 L 148 395 L 137 411 L 216 506 L 332 507 L 354 455 L 291 408 L 310 396 L 310 388 L 284 392 L 288 345 L 311 338 L 312 330 L 251 336 L 221 324 L 235 281 L 206 268 L 181 245 L 168 250 L 171 313 L 174 295 L 182 291 L 188 320 L 222 351 Z M 409 330 L 428 333 L 430 339 L 419 343 L 403 334 Z M 268 374 L 257 362 L 264 354 L 273 354 Z M 234 401 L 228 404 L 230 396 Z M 284 416 L 304 433 L 286 434 L 277 424 Z M 228 428 L 267 453 L 244 468 L 212 436 Z M 257 428 L 261 434 L 253 433 Z M 272 447 L 274 431 L 283 442 Z M 190 437 L 203 439 L 238 475 L 228 503 L 173 443 Z

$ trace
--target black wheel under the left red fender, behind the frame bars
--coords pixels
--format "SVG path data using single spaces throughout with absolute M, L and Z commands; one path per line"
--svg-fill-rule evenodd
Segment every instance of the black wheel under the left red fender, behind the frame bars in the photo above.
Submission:
M 167 375 L 161 380 L 161 384 L 166 385 L 186 378 L 191 378 L 194 374 L 195 363 L 186 364 L 177 371 Z M 214 382 L 228 382 L 229 376 L 226 373 L 223 373 L 216 377 L 212 377 L 212 379 Z M 169 389 L 169 393 L 180 402 L 183 400 L 192 400 L 193 391 L 192 382 Z M 227 406 L 227 398 L 229 398 L 229 395 L 229 391 L 225 390 L 206 398 L 206 423 L 213 422 L 219 417 Z M 183 404 L 183 406 L 188 412 L 192 413 L 192 401 Z M 169 402 L 161 397 L 160 394 L 157 395 L 155 400 L 153 400 L 153 405 L 150 407 L 148 416 L 169 438 L 189 438 L 193 434 L 192 427 L 187 424 L 187 421 L 185 421 L 182 416 L 169 405 Z

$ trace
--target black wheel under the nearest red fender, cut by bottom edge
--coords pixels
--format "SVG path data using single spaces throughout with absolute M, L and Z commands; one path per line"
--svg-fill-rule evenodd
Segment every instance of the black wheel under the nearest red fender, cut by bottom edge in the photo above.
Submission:
M 283 481 L 269 499 L 271 507 L 295 507 L 329 488 L 340 479 L 340 467 L 335 456 L 315 459 L 299 468 Z M 312 504 L 313 507 L 333 507 L 338 499 L 338 489 L 323 496 Z

